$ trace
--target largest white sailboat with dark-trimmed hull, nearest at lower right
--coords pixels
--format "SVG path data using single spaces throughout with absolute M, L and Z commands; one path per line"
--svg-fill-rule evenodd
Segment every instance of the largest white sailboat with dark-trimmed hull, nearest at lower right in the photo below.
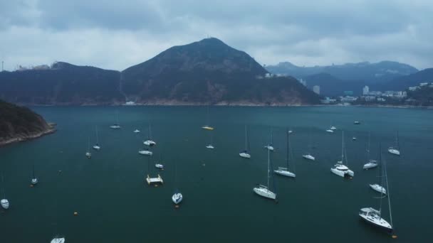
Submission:
M 387 232 L 393 231 L 392 226 L 392 212 L 391 212 L 391 199 L 390 199 L 390 190 L 388 188 L 388 179 L 387 179 L 387 170 L 385 163 L 382 163 L 382 149 L 379 148 L 379 161 L 383 166 L 384 169 L 384 178 L 381 180 L 382 183 L 384 183 L 387 187 L 388 191 L 388 206 L 389 206 L 389 212 L 390 212 L 390 222 L 387 222 L 382 217 L 382 199 L 385 198 L 383 191 L 380 191 L 380 206 L 379 210 L 375 210 L 372 207 L 364 207 L 360 209 L 359 215 L 362 220 L 369 223 L 370 225 L 374 225 L 376 227 L 379 227 L 381 229 L 385 229 Z

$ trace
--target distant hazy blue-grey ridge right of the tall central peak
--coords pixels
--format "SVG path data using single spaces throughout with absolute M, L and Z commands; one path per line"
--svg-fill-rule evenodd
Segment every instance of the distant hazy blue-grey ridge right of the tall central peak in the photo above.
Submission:
M 382 61 L 380 63 L 346 63 L 343 65 L 299 67 L 292 63 L 278 63 L 277 65 L 268 65 L 266 69 L 276 74 L 292 75 L 293 77 L 303 78 L 309 75 L 328 73 L 340 80 L 363 80 L 366 82 L 385 82 L 409 75 L 418 70 L 404 63 L 392 61 Z

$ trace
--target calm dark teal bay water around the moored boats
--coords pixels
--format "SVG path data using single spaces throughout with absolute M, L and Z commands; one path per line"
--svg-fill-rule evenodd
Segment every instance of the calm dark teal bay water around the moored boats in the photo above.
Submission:
M 33 107 L 58 124 L 56 134 L 0 148 L 9 210 L 0 210 L 0 242 L 49 242 L 54 234 L 66 242 L 430 242 L 433 217 L 431 180 L 433 112 L 428 109 L 365 107 L 211 107 L 214 151 L 204 146 L 209 131 L 206 107 Z M 111 130 L 118 111 L 122 129 Z M 330 121 L 335 134 L 324 130 Z M 361 125 L 354 125 L 359 120 Z M 137 151 L 152 123 L 157 146 L 148 161 Z M 249 127 L 250 160 L 239 157 L 244 125 Z M 84 153 L 87 139 L 100 151 Z M 266 183 L 266 149 L 270 129 L 272 163 L 282 166 L 286 135 L 291 142 L 296 180 L 276 176 L 278 204 L 252 192 Z M 133 134 L 140 129 L 141 134 Z M 345 130 L 353 180 L 330 173 L 340 157 Z M 378 207 L 368 183 L 377 171 L 362 171 L 371 131 L 372 156 L 379 142 L 386 148 L 400 133 L 401 157 L 384 153 L 390 182 L 393 222 L 398 239 L 362 222 L 361 207 Z M 304 161 L 311 134 L 315 162 Z M 351 141 L 352 136 L 358 138 Z M 144 183 L 155 175 L 162 154 L 165 184 Z M 178 183 L 174 185 L 174 161 Z M 39 183 L 30 188 L 31 165 Z M 204 165 L 203 165 L 204 164 Z M 150 166 L 149 166 L 150 165 Z M 62 173 L 58 173 L 62 171 Z M 171 196 L 184 195 L 179 209 Z M 73 212 L 78 216 L 73 216 Z M 384 215 L 389 219 L 385 204 Z

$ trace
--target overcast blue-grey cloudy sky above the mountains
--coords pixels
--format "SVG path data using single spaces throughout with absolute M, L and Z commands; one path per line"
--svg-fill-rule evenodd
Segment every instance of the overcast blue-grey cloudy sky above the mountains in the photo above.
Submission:
M 261 65 L 394 60 L 433 68 L 433 1 L 0 2 L 0 59 L 124 70 L 209 36 Z

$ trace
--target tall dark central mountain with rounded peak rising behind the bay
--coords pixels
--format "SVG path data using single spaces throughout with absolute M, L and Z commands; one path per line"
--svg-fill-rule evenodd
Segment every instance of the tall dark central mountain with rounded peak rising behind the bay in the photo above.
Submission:
M 266 78 L 251 56 L 216 38 L 169 48 L 122 71 L 122 91 L 145 104 L 316 104 L 293 77 Z

